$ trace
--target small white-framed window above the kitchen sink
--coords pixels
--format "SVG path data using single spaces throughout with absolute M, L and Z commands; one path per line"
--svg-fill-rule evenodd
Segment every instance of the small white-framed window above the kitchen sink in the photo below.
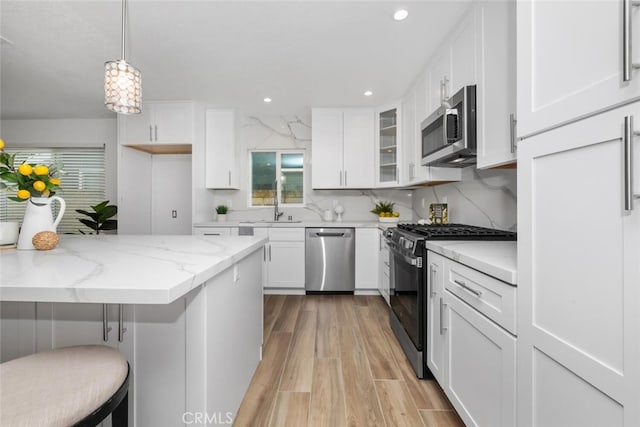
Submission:
M 277 178 L 276 178 L 277 177 Z M 304 204 L 304 152 L 252 151 L 250 206 Z

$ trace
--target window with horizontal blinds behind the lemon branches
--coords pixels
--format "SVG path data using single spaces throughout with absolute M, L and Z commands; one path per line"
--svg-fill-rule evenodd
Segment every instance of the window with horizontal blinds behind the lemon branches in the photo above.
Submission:
M 60 173 L 62 184 L 56 196 L 60 196 L 66 203 L 66 210 L 62 221 L 58 225 L 58 233 L 78 234 L 91 230 L 85 227 L 78 218 L 85 218 L 76 209 L 91 211 L 90 206 L 105 199 L 104 147 L 101 148 L 24 148 L 6 150 L 18 153 L 16 163 L 28 160 L 30 163 L 61 165 L 64 173 Z M 26 203 L 14 202 L 7 196 L 12 193 L 0 192 L 0 220 L 22 222 Z M 58 204 L 54 203 L 57 210 Z M 56 215 L 57 212 L 54 212 Z

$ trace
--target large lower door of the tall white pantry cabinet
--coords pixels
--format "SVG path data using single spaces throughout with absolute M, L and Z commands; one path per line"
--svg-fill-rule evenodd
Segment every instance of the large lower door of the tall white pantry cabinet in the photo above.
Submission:
M 624 206 L 632 115 L 640 104 L 519 147 L 518 425 L 640 425 L 640 203 Z

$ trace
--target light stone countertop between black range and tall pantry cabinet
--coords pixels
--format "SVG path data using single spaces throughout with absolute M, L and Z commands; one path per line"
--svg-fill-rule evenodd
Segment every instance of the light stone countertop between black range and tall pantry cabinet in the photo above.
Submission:
M 426 247 L 503 282 L 518 283 L 517 242 L 427 240 Z

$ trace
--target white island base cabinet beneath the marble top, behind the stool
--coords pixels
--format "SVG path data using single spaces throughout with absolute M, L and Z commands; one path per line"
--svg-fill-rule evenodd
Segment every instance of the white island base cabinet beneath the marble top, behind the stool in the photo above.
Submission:
M 81 344 L 119 348 L 131 365 L 129 425 L 230 424 L 262 354 L 262 251 L 171 304 L 0 303 L 1 361 Z M 107 418 L 103 426 L 111 425 Z

